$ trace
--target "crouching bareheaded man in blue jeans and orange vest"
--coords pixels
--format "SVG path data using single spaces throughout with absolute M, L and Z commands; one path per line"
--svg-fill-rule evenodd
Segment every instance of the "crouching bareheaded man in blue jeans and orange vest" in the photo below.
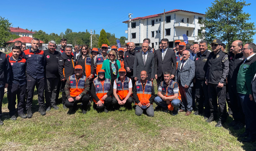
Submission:
M 159 84 L 155 103 L 158 105 L 156 109 L 162 108 L 162 111 L 172 111 L 172 115 L 177 115 L 180 105 L 179 86 L 171 79 L 171 73 L 164 73 L 164 81 Z M 171 112 L 170 112 L 171 113 Z

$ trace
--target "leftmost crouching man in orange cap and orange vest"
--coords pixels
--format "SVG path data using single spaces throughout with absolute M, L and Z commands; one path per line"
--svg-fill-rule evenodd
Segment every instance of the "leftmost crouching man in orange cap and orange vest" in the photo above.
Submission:
M 73 107 L 72 111 L 76 111 L 77 103 L 82 102 L 82 113 L 86 114 L 86 107 L 90 101 L 88 91 L 90 91 L 89 80 L 82 75 L 82 66 L 75 66 L 75 74 L 69 76 L 65 85 L 65 92 L 67 100 L 65 106 L 67 108 Z

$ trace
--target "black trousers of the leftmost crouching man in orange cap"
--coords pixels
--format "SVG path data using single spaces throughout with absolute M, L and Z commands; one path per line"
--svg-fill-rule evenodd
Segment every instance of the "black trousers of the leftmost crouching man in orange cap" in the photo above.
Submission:
M 70 107 L 73 107 L 73 106 L 76 106 L 77 103 L 83 103 L 82 105 L 82 110 L 85 110 L 86 107 L 87 107 L 87 104 L 89 103 L 90 101 L 90 97 L 88 94 L 85 94 L 83 97 L 80 98 L 80 100 L 76 100 L 76 96 L 71 96 L 73 98 L 74 101 L 72 102 L 69 102 L 69 100 L 67 99 L 66 102 L 65 102 L 65 106 L 67 108 L 70 108 Z

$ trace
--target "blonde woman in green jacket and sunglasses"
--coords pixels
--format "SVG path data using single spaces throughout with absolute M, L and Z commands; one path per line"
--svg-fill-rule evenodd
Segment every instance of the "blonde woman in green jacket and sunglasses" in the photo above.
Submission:
M 108 59 L 103 61 L 101 69 L 105 70 L 105 78 L 110 79 L 112 86 L 114 81 L 119 77 L 118 70 L 121 68 L 120 61 L 117 60 L 116 52 L 110 50 Z

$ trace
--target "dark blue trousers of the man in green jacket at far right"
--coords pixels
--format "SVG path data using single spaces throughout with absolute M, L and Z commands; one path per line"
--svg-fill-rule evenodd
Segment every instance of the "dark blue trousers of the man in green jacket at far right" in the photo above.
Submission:
M 255 129 L 255 124 L 256 124 L 256 115 L 255 115 L 255 108 L 256 104 L 254 100 L 250 100 L 248 94 L 241 94 L 238 93 L 241 105 L 243 108 L 243 112 L 245 115 L 245 131 L 250 132 L 250 137 L 255 138 L 256 134 L 256 129 Z

